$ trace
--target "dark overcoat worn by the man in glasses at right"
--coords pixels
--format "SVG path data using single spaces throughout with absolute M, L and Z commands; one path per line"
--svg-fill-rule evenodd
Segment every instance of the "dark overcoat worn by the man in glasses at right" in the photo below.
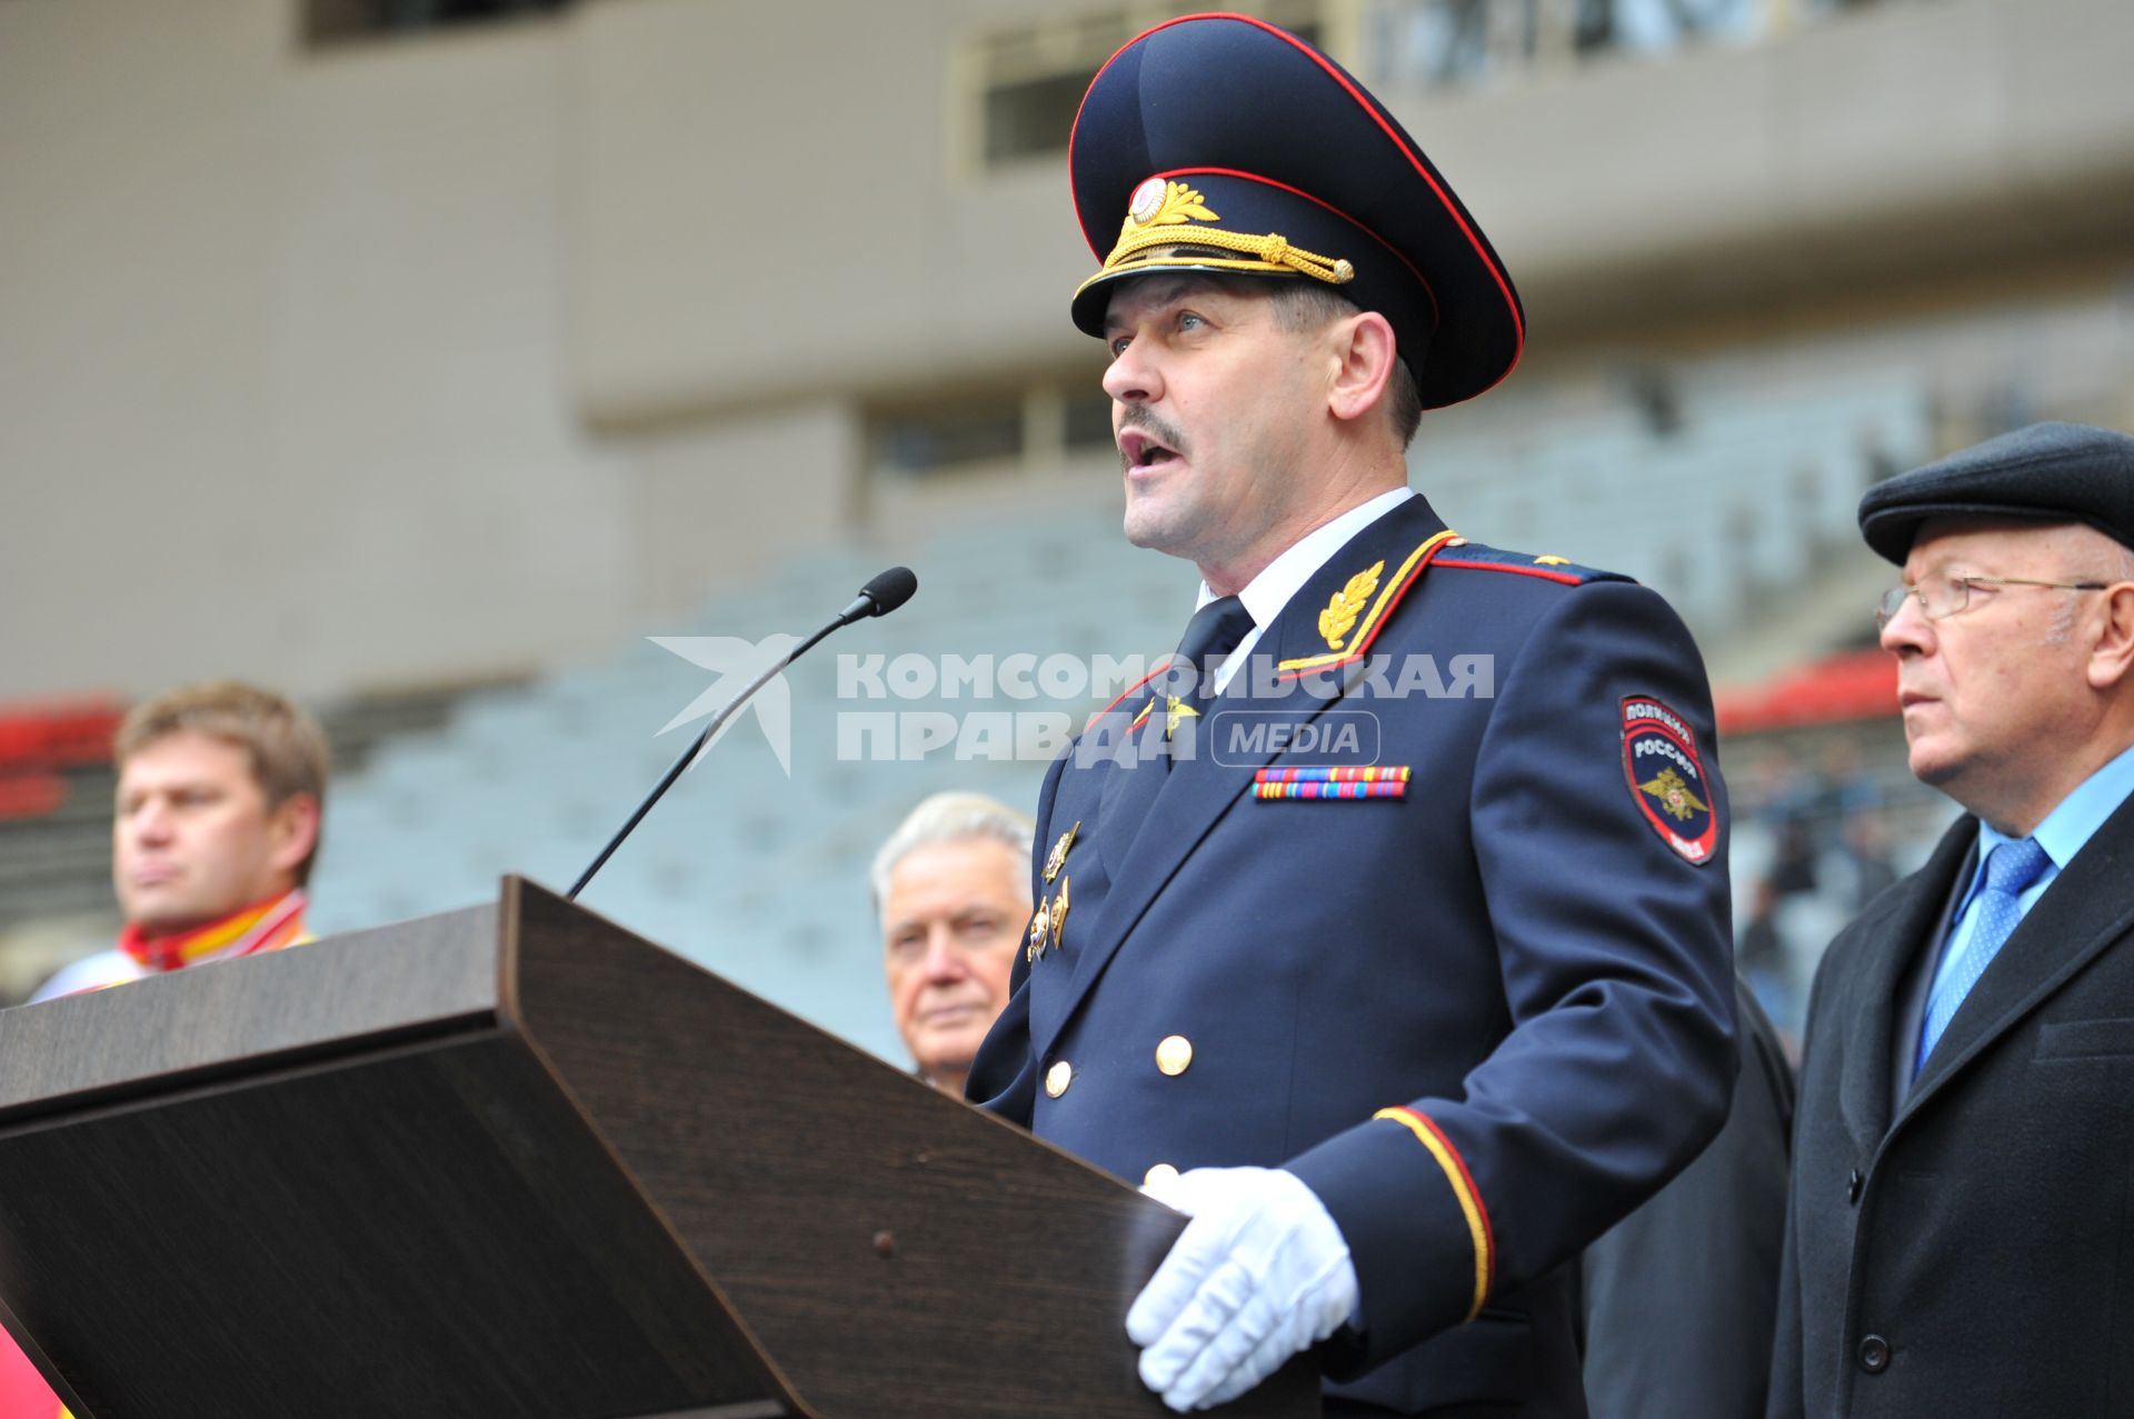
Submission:
M 2134 800 L 2023 915 L 1897 1103 L 1899 992 L 1978 822 L 1810 1001 L 1771 1415 L 2134 1415 Z

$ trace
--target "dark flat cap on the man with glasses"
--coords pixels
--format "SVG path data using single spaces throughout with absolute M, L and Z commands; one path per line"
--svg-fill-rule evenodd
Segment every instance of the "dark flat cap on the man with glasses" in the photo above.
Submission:
M 1861 536 L 1897 565 L 1933 516 L 2087 523 L 2134 546 L 2134 437 L 2029 425 L 1886 478 L 1861 497 Z

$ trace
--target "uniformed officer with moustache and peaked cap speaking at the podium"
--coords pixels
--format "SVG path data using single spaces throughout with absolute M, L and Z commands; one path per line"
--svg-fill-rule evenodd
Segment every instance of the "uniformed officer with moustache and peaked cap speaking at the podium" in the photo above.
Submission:
M 1204 585 L 1046 777 L 969 1097 L 1193 1216 L 1127 1317 L 1172 1408 L 1312 1351 L 1327 1415 L 1583 1415 L 1564 1263 L 1735 1078 L 1697 647 L 1408 489 L 1519 301 L 1325 55 L 1157 26 L 1069 166 L 1125 531 Z

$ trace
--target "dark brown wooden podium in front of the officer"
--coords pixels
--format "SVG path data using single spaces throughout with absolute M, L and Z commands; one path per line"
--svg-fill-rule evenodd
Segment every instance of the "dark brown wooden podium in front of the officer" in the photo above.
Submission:
M 0 1319 L 79 1419 L 1152 1419 L 1180 1227 L 519 879 L 0 1011 Z

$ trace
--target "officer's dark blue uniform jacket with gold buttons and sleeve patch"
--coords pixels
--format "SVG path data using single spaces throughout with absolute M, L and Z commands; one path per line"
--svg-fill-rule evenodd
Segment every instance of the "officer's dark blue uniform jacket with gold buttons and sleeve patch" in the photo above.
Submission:
M 1174 719 L 1150 685 L 1052 766 L 1044 920 L 971 1099 L 1133 1182 L 1304 1178 L 1361 1282 L 1334 1393 L 1583 1415 L 1560 1267 L 1735 1078 L 1697 647 L 1652 591 L 1460 542 L 1417 497 L 1253 659 L 1178 719 L 1191 760 L 1129 762 Z M 1408 779 L 1263 798 L 1255 770 L 1295 764 Z

